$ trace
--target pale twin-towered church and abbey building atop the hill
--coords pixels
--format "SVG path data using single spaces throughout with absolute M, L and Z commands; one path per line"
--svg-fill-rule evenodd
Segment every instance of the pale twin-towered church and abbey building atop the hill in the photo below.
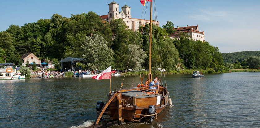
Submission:
M 108 14 L 101 15 L 100 17 L 110 23 L 112 19 L 123 19 L 129 29 L 133 30 L 134 32 L 138 30 L 140 26 L 145 26 L 145 24 L 150 24 L 150 20 L 145 19 L 136 19 L 132 18 L 131 15 L 131 7 L 125 5 L 121 7 L 121 11 L 119 11 L 119 4 L 116 2 L 111 2 L 108 4 Z M 159 21 L 152 21 L 154 25 L 159 26 Z

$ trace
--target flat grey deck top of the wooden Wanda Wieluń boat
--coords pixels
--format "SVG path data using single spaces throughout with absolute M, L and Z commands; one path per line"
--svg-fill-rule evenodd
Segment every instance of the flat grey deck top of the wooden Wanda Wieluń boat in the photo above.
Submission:
M 144 90 L 144 92 L 151 92 L 151 91 Z M 156 97 L 156 96 L 162 95 L 162 94 L 147 94 L 144 92 L 138 91 L 138 90 L 131 90 L 131 91 L 127 91 L 127 92 L 122 92 L 122 95 L 136 97 L 136 98 L 148 98 L 148 97 Z

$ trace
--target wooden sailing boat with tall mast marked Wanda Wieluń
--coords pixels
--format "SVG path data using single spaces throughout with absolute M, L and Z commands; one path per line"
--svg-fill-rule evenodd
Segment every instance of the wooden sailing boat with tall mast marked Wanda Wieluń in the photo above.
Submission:
M 152 2 L 150 11 L 152 12 Z M 151 17 L 152 14 L 150 14 Z M 151 74 L 151 47 L 152 47 L 152 19 L 150 18 L 150 64 L 148 83 L 152 81 Z M 140 85 L 143 85 L 144 76 L 141 79 Z M 149 84 L 148 84 L 149 85 Z M 121 87 L 123 83 L 121 84 Z M 169 99 L 169 92 L 165 86 L 153 85 L 150 87 L 157 87 L 157 89 L 149 89 L 149 87 L 134 87 L 128 89 L 119 89 L 113 93 L 108 94 L 108 100 L 105 102 L 98 102 L 96 109 L 98 116 L 92 126 L 89 128 L 107 127 L 122 122 L 140 122 L 142 119 L 157 118 L 157 115 L 163 111 L 163 109 L 171 104 Z M 151 92 L 155 91 L 155 92 Z M 109 117 L 105 117 L 107 115 Z M 100 122 L 102 119 L 108 119 L 107 122 Z

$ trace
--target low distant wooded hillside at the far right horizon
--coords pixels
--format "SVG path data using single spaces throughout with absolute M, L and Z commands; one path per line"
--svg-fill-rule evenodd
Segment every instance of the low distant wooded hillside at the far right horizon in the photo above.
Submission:
M 260 57 L 260 51 L 243 51 L 235 53 L 222 53 L 223 62 L 235 63 L 238 60 L 240 63 L 249 56 Z

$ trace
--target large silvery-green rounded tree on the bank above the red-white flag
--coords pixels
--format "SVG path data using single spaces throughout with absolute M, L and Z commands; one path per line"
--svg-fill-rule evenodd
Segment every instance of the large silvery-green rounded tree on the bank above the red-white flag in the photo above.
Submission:
M 113 65 L 113 50 L 107 47 L 107 41 L 98 34 L 93 37 L 87 36 L 82 49 L 82 54 L 87 62 L 87 66 L 93 70 L 104 70 Z

